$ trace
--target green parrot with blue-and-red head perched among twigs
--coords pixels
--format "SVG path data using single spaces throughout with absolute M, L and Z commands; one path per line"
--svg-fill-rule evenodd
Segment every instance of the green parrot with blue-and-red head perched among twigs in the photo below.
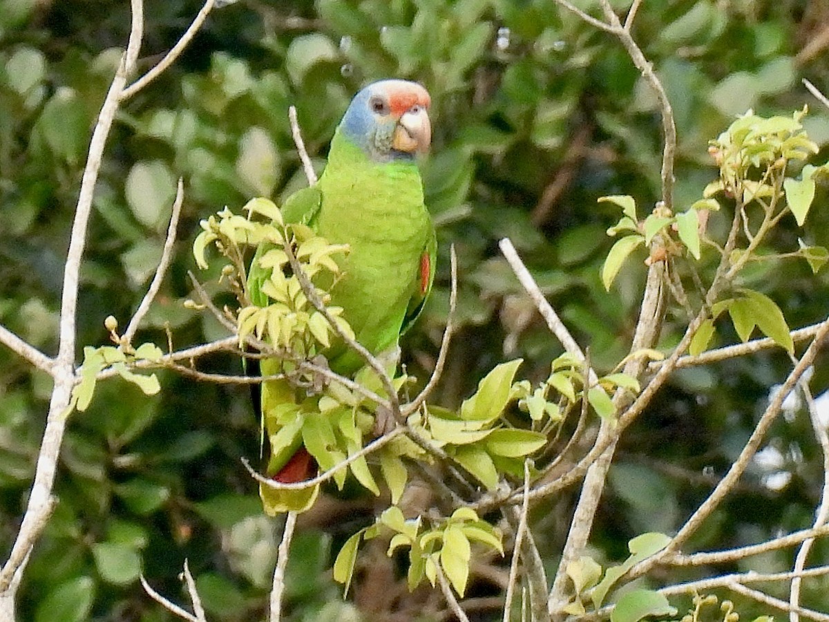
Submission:
M 423 183 L 415 156 L 431 141 L 429 93 L 406 80 L 381 80 L 366 86 L 349 105 L 332 138 L 326 168 L 313 187 L 284 202 L 286 223 L 302 223 L 331 244 L 347 244 L 338 260 L 341 277 L 329 290 L 331 304 L 356 340 L 372 354 L 396 367 L 398 341 L 422 309 L 434 278 L 434 226 L 424 205 Z M 265 306 L 261 285 L 270 270 L 262 268 L 257 250 L 248 277 L 250 298 Z M 364 362 L 347 344 L 332 343 L 323 352 L 332 371 L 352 376 Z M 261 373 L 279 372 L 280 362 L 263 360 Z M 303 396 L 288 381 L 261 386 L 260 410 L 269 440 L 289 451 L 271 452 L 266 474 L 283 483 L 316 474 L 313 456 L 303 446 L 298 426 L 279 425 L 280 408 Z M 286 439 L 287 437 L 287 439 Z M 274 490 L 259 487 L 269 514 L 308 509 L 318 487 Z

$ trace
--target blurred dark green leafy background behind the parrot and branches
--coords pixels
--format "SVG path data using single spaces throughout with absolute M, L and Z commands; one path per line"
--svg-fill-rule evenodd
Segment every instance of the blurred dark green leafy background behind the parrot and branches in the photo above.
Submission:
M 198 8 L 181 0 L 146 2 L 147 65 Z M 80 167 L 128 23 L 124 2 L 0 0 L 0 321 L 45 352 L 56 345 Z M 714 177 L 707 141 L 734 114 L 749 107 L 788 114 L 812 105 L 802 76 L 827 90 L 829 57 L 821 46 L 829 39 L 827 23 L 825 0 L 643 2 L 633 34 L 674 106 L 678 209 Z M 611 242 L 604 231 L 618 215 L 595 199 L 623 193 L 652 205 L 660 124 L 623 48 L 552 0 L 243 0 L 216 10 L 182 61 L 119 113 L 95 197 L 79 343 L 104 343 L 104 318 L 128 318 L 138 304 L 161 252 L 179 176 L 187 192 L 180 250 L 142 337 L 163 346 L 165 326 L 176 347 L 224 336 L 209 315 L 182 307 L 199 219 L 304 183 L 288 105 L 297 106 L 322 168 L 351 95 L 392 75 L 421 81 L 434 102 L 434 148 L 424 178 L 441 259 L 436 291 L 405 343 L 410 371 L 425 377 L 434 363 L 453 242 L 462 328 L 436 403 L 457 406 L 506 357 L 525 358 L 525 377 L 546 376 L 560 347 L 499 257 L 495 242 L 503 236 L 521 251 L 579 343 L 589 344 L 599 372 L 613 367 L 631 336 L 644 269 L 633 262 L 611 293 L 604 291 L 599 265 Z M 829 141 L 826 110 L 812 106 L 806 124 L 817 143 Z M 796 246 L 802 236 L 829 245 L 826 200 L 824 191 L 805 230 L 788 221 L 778 233 L 781 243 Z M 715 215 L 711 226 L 728 223 Z M 759 266 L 749 286 L 772 296 L 791 326 L 825 316 L 825 271 L 815 278 L 805 262 Z M 214 282 L 217 276 L 199 275 Z M 673 320 L 669 313 L 665 344 L 678 338 Z M 678 372 L 623 437 L 594 527 L 594 554 L 618 559 L 630 537 L 676 529 L 731 463 L 788 364 L 783 353 L 767 352 Z M 226 357 L 209 362 L 213 371 L 238 367 Z M 829 378 L 820 365 L 815 373 L 817 394 Z M 70 422 L 56 487 L 61 503 L 27 571 L 22 619 L 169 620 L 143 594 L 138 574 L 177 594 L 185 557 L 211 620 L 261 617 L 279 526 L 259 515 L 255 486 L 240 465 L 240 457 L 258 452 L 247 391 L 172 374 L 163 375 L 162 385 L 161 396 L 148 399 L 120 381 L 104 383 L 90 410 Z M 50 389 L 46 377 L 0 351 L 6 547 L 32 479 Z M 775 425 L 765 459 L 755 460 L 740 493 L 709 521 L 696 546 L 736 546 L 811 524 L 821 486 L 821 472 L 812 467 L 819 449 L 807 417 L 797 405 L 789 412 Z M 563 495 L 533 513 L 551 568 L 572 502 Z M 288 573 L 293 619 L 356 620 L 360 609 L 411 620 L 414 608 L 421 610 L 424 595 L 372 589 L 377 577 L 370 569 L 356 586 L 358 606 L 343 604 L 322 571 L 370 512 L 371 501 L 353 499 L 326 503 L 305 519 Z M 812 555 L 826 560 L 826 544 Z M 750 563 L 785 571 L 791 562 L 780 552 Z M 829 609 L 829 579 L 806 585 L 804 601 Z M 497 581 L 479 578 L 477 590 L 495 594 Z

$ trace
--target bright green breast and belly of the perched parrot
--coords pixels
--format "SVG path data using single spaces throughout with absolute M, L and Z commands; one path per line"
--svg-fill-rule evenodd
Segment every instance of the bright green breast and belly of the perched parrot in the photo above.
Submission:
M 328 241 L 351 246 L 340 261 L 344 275 L 332 288 L 332 304 L 344 309 L 357 341 L 383 352 L 397 343 L 417 293 L 431 226 L 418 168 L 414 162 L 372 163 L 337 133 L 318 184 L 322 207 L 314 228 Z

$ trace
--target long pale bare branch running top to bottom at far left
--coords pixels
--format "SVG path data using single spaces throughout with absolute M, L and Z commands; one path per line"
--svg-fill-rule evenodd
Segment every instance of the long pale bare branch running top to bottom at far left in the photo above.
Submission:
M 143 3 L 142 0 L 131 0 L 132 26 L 129 32 L 127 51 L 121 59 L 118 70 L 109 85 L 109 91 L 104 98 L 98 115 L 98 121 L 92 132 L 90 150 L 86 158 L 83 177 L 80 181 L 78 203 L 75 208 L 75 218 L 72 222 L 69 250 L 66 253 L 63 276 L 63 294 L 61 296 L 61 320 L 59 328 L 58 354 L 52 368 L 52 377 L 55 379 L 52 388 L 49 412 L 46 415 L 46 429 L 43 432 L 40 451 L 37 456 L 35 480 L 32 483 L 32 492 L 29 494 L 26 513 L 20 531 L 12 546 L 9 560 L 0 572 L 0 586 L 8 588 L 12 584 L 13 576 L 22 572 L 28 559 L 28 552 L 34 546 L 45 524 L 43 514 L 50 507 L 51 490 L 55 483 L 58 455 L 61 452 L 61 442 L 66 425 L 64 411 L 69 405 L 72 387 L 75 386 L 75 338 L 76 315 L 78 307 L 78 290 L 80 284 L 80 263 L 86 245 L 86 230 L 92 211 L 92 197 L 95 193 L 95 184 L 101 166 L 109 129 L 119 107 L 119 98 L 128 75 L 132 74 L 138 59 L 138 51 L 143 38 Z M 22 554 L 21 554 L 22 552 Z M 3 604 L 13 604 L 13 595 L 2 599 Z M 0 611 L 0 619 L 3 618 Z M 7 619 L 11 619 L 9 614 Z

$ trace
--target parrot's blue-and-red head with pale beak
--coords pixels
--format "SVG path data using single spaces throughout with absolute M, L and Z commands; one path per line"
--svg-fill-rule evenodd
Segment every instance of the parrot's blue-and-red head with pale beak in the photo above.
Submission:
M 432 140 L 429 93 L 416 82 L 380 80 L 361 90 L 340 128 L 378 163 L 414 158 Z

